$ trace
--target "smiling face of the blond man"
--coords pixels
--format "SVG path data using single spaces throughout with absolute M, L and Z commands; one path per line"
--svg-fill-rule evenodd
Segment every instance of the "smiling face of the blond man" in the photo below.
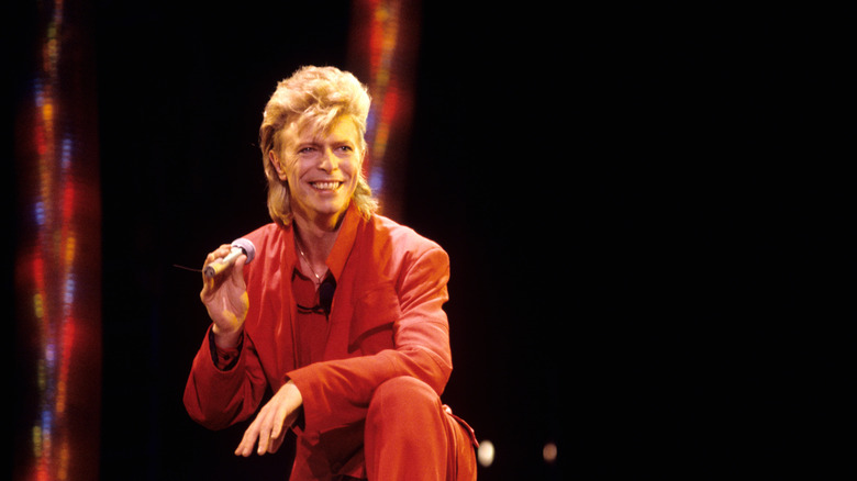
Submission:
M 349 118 L 334 122 L 327 133 L 283 131 L 283 169 L 294 215 L 336 223 L 357 187 L 363 152 L 359 131 Z

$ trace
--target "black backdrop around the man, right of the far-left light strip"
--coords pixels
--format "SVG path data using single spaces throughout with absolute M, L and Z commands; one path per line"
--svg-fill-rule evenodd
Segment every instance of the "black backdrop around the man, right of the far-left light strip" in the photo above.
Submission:
M 269 222 L 261 109 L 349 68 L 349 3 L 94 7 L 101 477 L 285 479 L 288 448 L 236 459 L 245 425 L 186 415 L 208 321 L 172 265 Z M 450 255 L 444 401 L 497 447 L 480 479 L 819 479 L 853 452 L 849 19 L 424 2 L 397 220 Z

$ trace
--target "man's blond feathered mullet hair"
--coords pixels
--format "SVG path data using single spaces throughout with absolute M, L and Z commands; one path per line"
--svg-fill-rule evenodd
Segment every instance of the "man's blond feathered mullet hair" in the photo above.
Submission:
M 291 77 L 277 83 L 277 90 L 265 105 L 259 127 L 259 148 L 268 179 L 268 213 L 271 220 L 286 227 L 291 224 L 292 212 L 289 203 L 289 184 L 280 180 L 277 169 L 270 160 L 270 152 L 282 153 L 285 131 L 297 123 L 298 131 L 311 128 L 312 132 L 327 132 L 335 121 L 350 118 L 359 132 L 360 155 L 366 155 L 366 119 L 369 115 L 371 99 L 369 92 L 357 78 L 335 67 L 301 67 Z M 281 156 L 282 157 L 282 156 Z M 352 202 L 365 219 L 378 210 L 378 201 L 372 197 L 369 182 L 359 169 L 357 188 Z

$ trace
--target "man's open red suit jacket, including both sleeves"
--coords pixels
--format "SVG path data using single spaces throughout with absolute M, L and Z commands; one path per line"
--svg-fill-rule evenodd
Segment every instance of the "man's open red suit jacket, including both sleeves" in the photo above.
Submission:
M 291 379 L 303 396 L 293 480 L 364 477 L 363 426 L 376 387 L 411 376 L 439 395 L 453 369 L 447 301 L 449 259 L 434 242 L 352 205 L 327 258 L 336 280 L 323 360 L 297 366 L 291 297 L 293 230 L 268 224 L 246 236 L 249 311 L 237 363 L 218 369 L 202 343 L 185 390 L 200 424 L 223 428 L 252 416 L 266 388 Z M 468 428 L 469 429 L 469 428 Z

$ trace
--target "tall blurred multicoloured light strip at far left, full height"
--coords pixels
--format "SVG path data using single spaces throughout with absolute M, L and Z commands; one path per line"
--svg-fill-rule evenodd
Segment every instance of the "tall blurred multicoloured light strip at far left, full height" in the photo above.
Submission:
M 18 361 L 32 366 L 35 379 L 21 395 L 33 400 L 35 412 L 23 413 L 31 423 L 29 449 L 16 446 L 14 479 L 82 480 L 98 472 L 100 189 L 94 96 L 81 87 L 94 69 L 81 38 L 87 27 L 67 10 L 80 11 L 80 3 L 38 3 L 32 97 L 19 107 L 15 161 L 24 212 L 15 291 L 24 307 L 16 311 L 16 340 L 26 345 L 18 351 L 32 359 Z

